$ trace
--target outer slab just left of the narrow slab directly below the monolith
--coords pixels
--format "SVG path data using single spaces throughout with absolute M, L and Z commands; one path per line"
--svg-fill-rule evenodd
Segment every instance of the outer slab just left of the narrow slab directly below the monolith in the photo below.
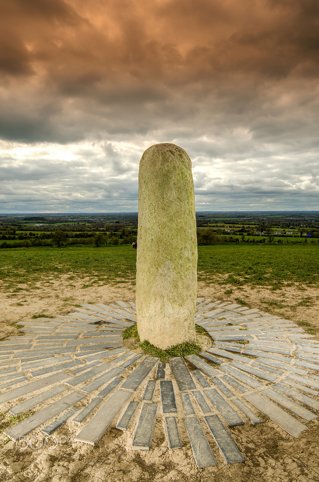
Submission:
M 143 403 L 134 433 L 132 450 L 149 450 L 152 444 L 157 403 Z

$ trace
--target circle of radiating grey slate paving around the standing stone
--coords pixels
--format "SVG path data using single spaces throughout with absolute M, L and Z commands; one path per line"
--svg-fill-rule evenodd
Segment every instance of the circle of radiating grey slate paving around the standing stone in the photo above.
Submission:
M 164 414 L 163 423 L 167 432 L 168 446 L 170 450 L 180 449 L 181 441 L 177 423 L 179 415 L 177 415 L 173 381 L 165 380 L 165 363 L 153 357 L 129 352 L 129 349 L 123 346 L 121 333 L 136 322 L 135 308 L 133 302 L 124 303 L 121 300 L 111 304 L 84 303 L 82 308 L 75 308 L 68 316 L 58 315 L 53 319 L 43 318 L 26 322 L 22 333 L 27 335 L 11 336 L 5 342 L 0 342 L 2 349 L 0 350 L 0 390 L 5 389 L 0 394 L 0 403 L 11 402 L 13 406 L 10 413 L 16 415 L 42 402 L 50 401 L 50 414 L 44 414 L 43 410 L 40 410 L 35 414 L 39 415 L 37 422 L 29 417 L 31 430 L 35 423 L 39 427 L 39 420 L 43 420 L 40 422 L 42 425 L 46 420 L 57 417 L 43 429 L 48 435 L 52 428 L 61 426 L 67 414 L 71 413 L 69 410 L 72 412 L 75 410 L 70 408 L 72 404 L 68 406 L 60 404 L 60 412 L 53 413 L 58 407 L 54 397 L 61 397 L 60 393 L 76 385 L 80 385 L 79 391 L 73 393 L 77 393 L 77 396 L 82 398 L 87 397 L 92 391 L 96 390 L 95 393 L 97 393 L 100 389 L 87 406 L 80 412 L 78 410 L 73 418 L 74 423 L 83 424 L 76 441 L 95 444 L 106 432 L 113 418 L 122 413 L 117 423 L 120 429 L 127 429 L 132 419 L 136 421 L 139 418 L 141 422 L 139 430 L 136 426 L 133 449 L 149 449 L 154 428 L 151 422 L 155 421 L 157 412 L 157 407 L 154 408 L 156 404 L 152 400 L 156 380 L 159 380 L 162 408 L 160 412 Z M 295 413 L 306 422 L 317 417 L 316 413 L 312 413 L 304 406 L 319 410 L 319 402 L 316 399 L 319 394 L 319 376 L 308 373 L 309 370 L 316 370 L 315 373 L 319 375 L 319 342 L 312 335 L 305 334 L 302 328 L 289 320 L 269 315 L 257 308 L 241 307 L 229 301 L 202 298 L 197 307 L 196 320 L 196 323 L 204 327 L 212 339 L 215 338 L 213 347 L 208 348 L 206 352 L 200 352 L 199 356 L 186 357 L 186 361 L 196 367 L 192 375 L 183 358 L 171 358 L 169 363 L 179 388 L 176 396 L 177 399 L 181 398 L 185 420 L 188 420 L 185 424 L 188 425 L 188 429 L 193 427 L 191 434 L 188 433 L 188 435 L 192 439 L 191 447 L 198 466 L 206 467 L 208 461 L 208 465 L 214 465 L 215 461 L 212 459 L 213 454 L 209 444 L 207 448 L 208 442 L 199 419 L 195 416 L 194 406 L 189 396 L 190 391 L 196 401 L 196 411 L 199 413 L 200 409 L 205 415 L 205 423 L 226 463 L 241 462 L 243 459 L 218 415 L 211 415 L 212 409 L 213 411 L 216 409 L 230 426 L 234 426 L 242 424 L 243 420 L 231 403 L 253 424 L 260 423 L 261 419 L 253 413 L 251 404 L 256 408 L 263 405 L 264 410 L 260 410 L 293 436 L 298 436 L 306 425 L 301 424 L 290 413 Z M 231 326 L 229 323 L 232 323 Z M 247 344 L 247 340 L 250 340 L 250 343 Z M 242 341 L 242 344 L 235 341 Z M 13 347 L 15 349 L 12 349 Z M 297 347 L 296 356 L 293 352 L 294 347 Z M 258 358 L 252 360 L 247 355 Z M 112 359 L 113 357 L 115 358 Z M 103 363 L 103 359 L 107 358 L 111 361 Z M 86 362 L 86 365 L 82 365 Z M 129 369 L 134 362 L 138 365 L 131 375 L 127 376 L 126 368 Z M 214 362 L 218 369 L 209 362 Z M 80 368 L 73 370 L 77 365 L 80 365 Z M 155 365 L 157 365 L 156 374 L 151 375 Z M 72 369 L 73 377 L 61 371 L 64 369 Z M 118 370 L 121 372 L 118 373 Z M 61 379 L 55 375 L 44 376 L 38 380 L 40 385 L 34 385 L 37 382 L 30 382 L 24 375 L 42 377 L 57 371 L 55 375 L 62 375 Z M 203 374 L 210 376 L 210 379 L 207 380 Z M 170 376 L 170 369 L 167 367 L 166 377 Z M 47 381 L 48 378 L 50 383 Z M 262 380 L 264 380 L 263 383 Z M 9 383 L 4 383 L 7 381 Z M 268 382 L 277 383 L 270 388 Z M 145 387 L 144 394 L 142 390 L 136 391 L 141 384 Z M 14 388 L 16 385 L 18 388 Z M 7 386 L 11 389 L 6 389 Z M 197 389 L 196 387 L 199 386 L 200 389 Z M 32 397 L 32 392 L 39 389 L 45 391 Z M 238 393 L 241 396 L 238 396 Z M 14 406 L 16 398 L 28 394 L 31 394 L 28 400 Z M 137 396 L 137 400 L 129 402 L 132 396 L 134 398 Z M 62 397 L 57 402 L 61 402 L 66 397 Z M 241 398 L 244 398 L 244 401 Z M 141 401 L 142 409 L 136 417 L 134 416 L 136 407 Z M 51 409 L 52 406 L 53 409 Z M 123 413 L 125 407 L 127 408 Z M 97 409 L 96 414 L 85 424 L 86 417 L 95 409 Z M 172 415 L 167 415 L 170 413 Z M 46 420 L 44 420 L 45 416 L 48 417 Z M 161 413 L 159 416 L 162 416 Z M 20 428 L 22 433 L 24 428 L 23 426 Z M 186 431 L 188 432 L 187 427 Z M 196 434 L 199 434 L 198 440 L 196 440 Z M 196 442 L 197 452 L 195 453 Z

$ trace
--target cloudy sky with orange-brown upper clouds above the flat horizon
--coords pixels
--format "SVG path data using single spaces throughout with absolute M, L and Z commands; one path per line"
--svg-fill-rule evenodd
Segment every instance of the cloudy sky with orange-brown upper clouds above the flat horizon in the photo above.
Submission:
M 198 211 L 319 210 L 318 0 L 0 8 L 0 212 L 137 211 L 159 142 Z

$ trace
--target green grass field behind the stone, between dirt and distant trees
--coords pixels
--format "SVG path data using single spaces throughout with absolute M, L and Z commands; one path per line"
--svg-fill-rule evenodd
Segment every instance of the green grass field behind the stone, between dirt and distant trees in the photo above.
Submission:
M 201 281 L 220 281 L 238 286 L 244 283 L 272 285 L 282 281 L 306 284 L 319 282 L 319 244 L 223 243 L 198 247 Z M 16 248 L 0 252 L 0 280 L 14 288 L 68 274 L 69 279 L 133 281 L 136 251 L 131 245 L 68 246 L 66 248 Z

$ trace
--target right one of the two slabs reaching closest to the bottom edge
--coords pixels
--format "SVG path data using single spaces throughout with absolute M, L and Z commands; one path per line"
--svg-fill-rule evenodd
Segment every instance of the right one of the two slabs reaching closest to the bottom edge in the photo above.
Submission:
M 240 454 L 237 445 L 227 432 L 227 429 L 218 415 L 208 415 L 204 420 L 209 428 L 213 439 L 221 451 L 226 464 L 235 464 L 245 462 L 244 457 Z

